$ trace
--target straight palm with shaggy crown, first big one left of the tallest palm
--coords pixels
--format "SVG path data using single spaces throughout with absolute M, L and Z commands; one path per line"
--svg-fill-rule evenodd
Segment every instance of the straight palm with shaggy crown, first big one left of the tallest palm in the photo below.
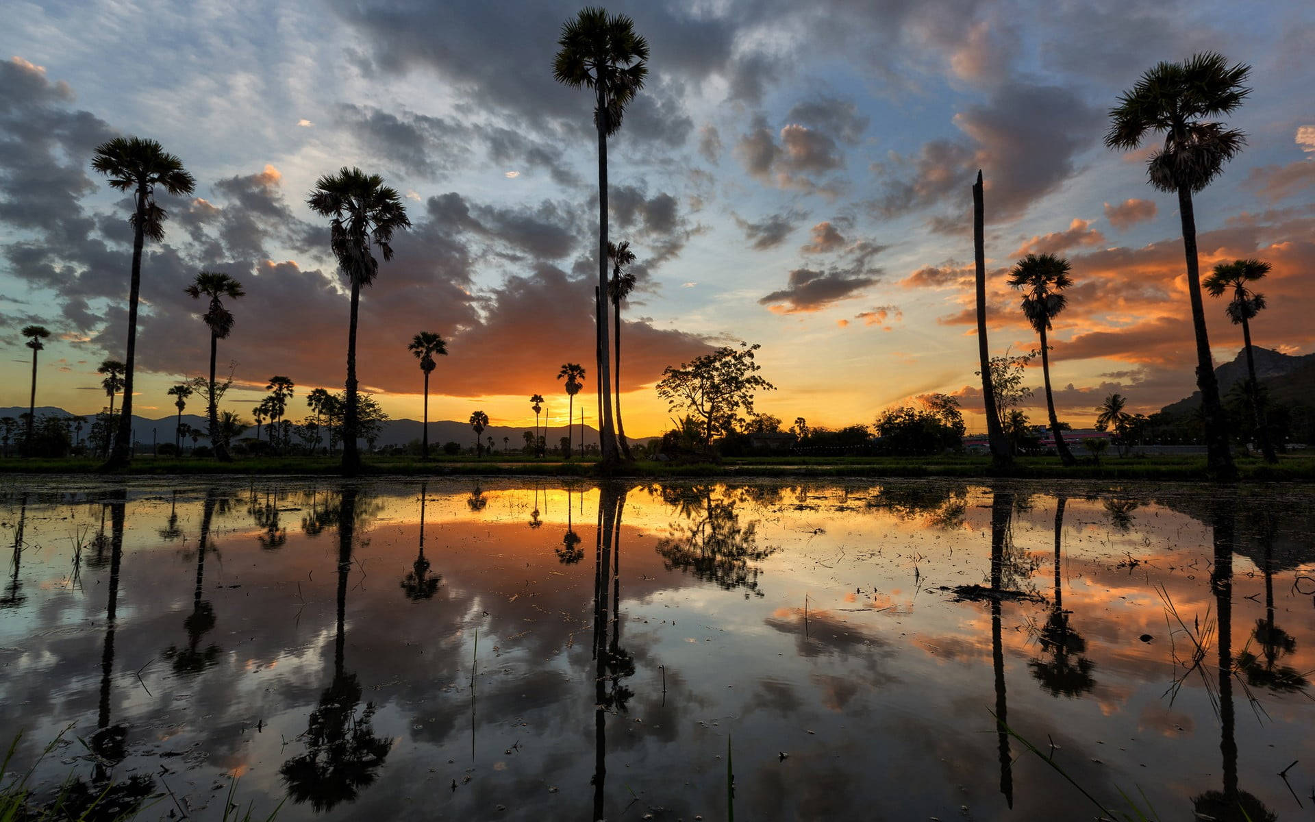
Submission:
M 329 217 L 329 245 L 338 259 L 338 270 L 351 283 L 351 316 L 347 325 L 347 397 L 342 422 L 342 472 L 354 476 L 360 471 L 356 448 L 359 400 L 356 399 L 356 317 L 360 288 L 379 275 L 379 260 L 371 254 L 377 247 L 384 260 L 393 259 L 393 231 L 410 228 L 406 208 L 396 188 L 384 185 L 377 174 L 347 168 L 316 180 L 306 197 L 313 212 Z

